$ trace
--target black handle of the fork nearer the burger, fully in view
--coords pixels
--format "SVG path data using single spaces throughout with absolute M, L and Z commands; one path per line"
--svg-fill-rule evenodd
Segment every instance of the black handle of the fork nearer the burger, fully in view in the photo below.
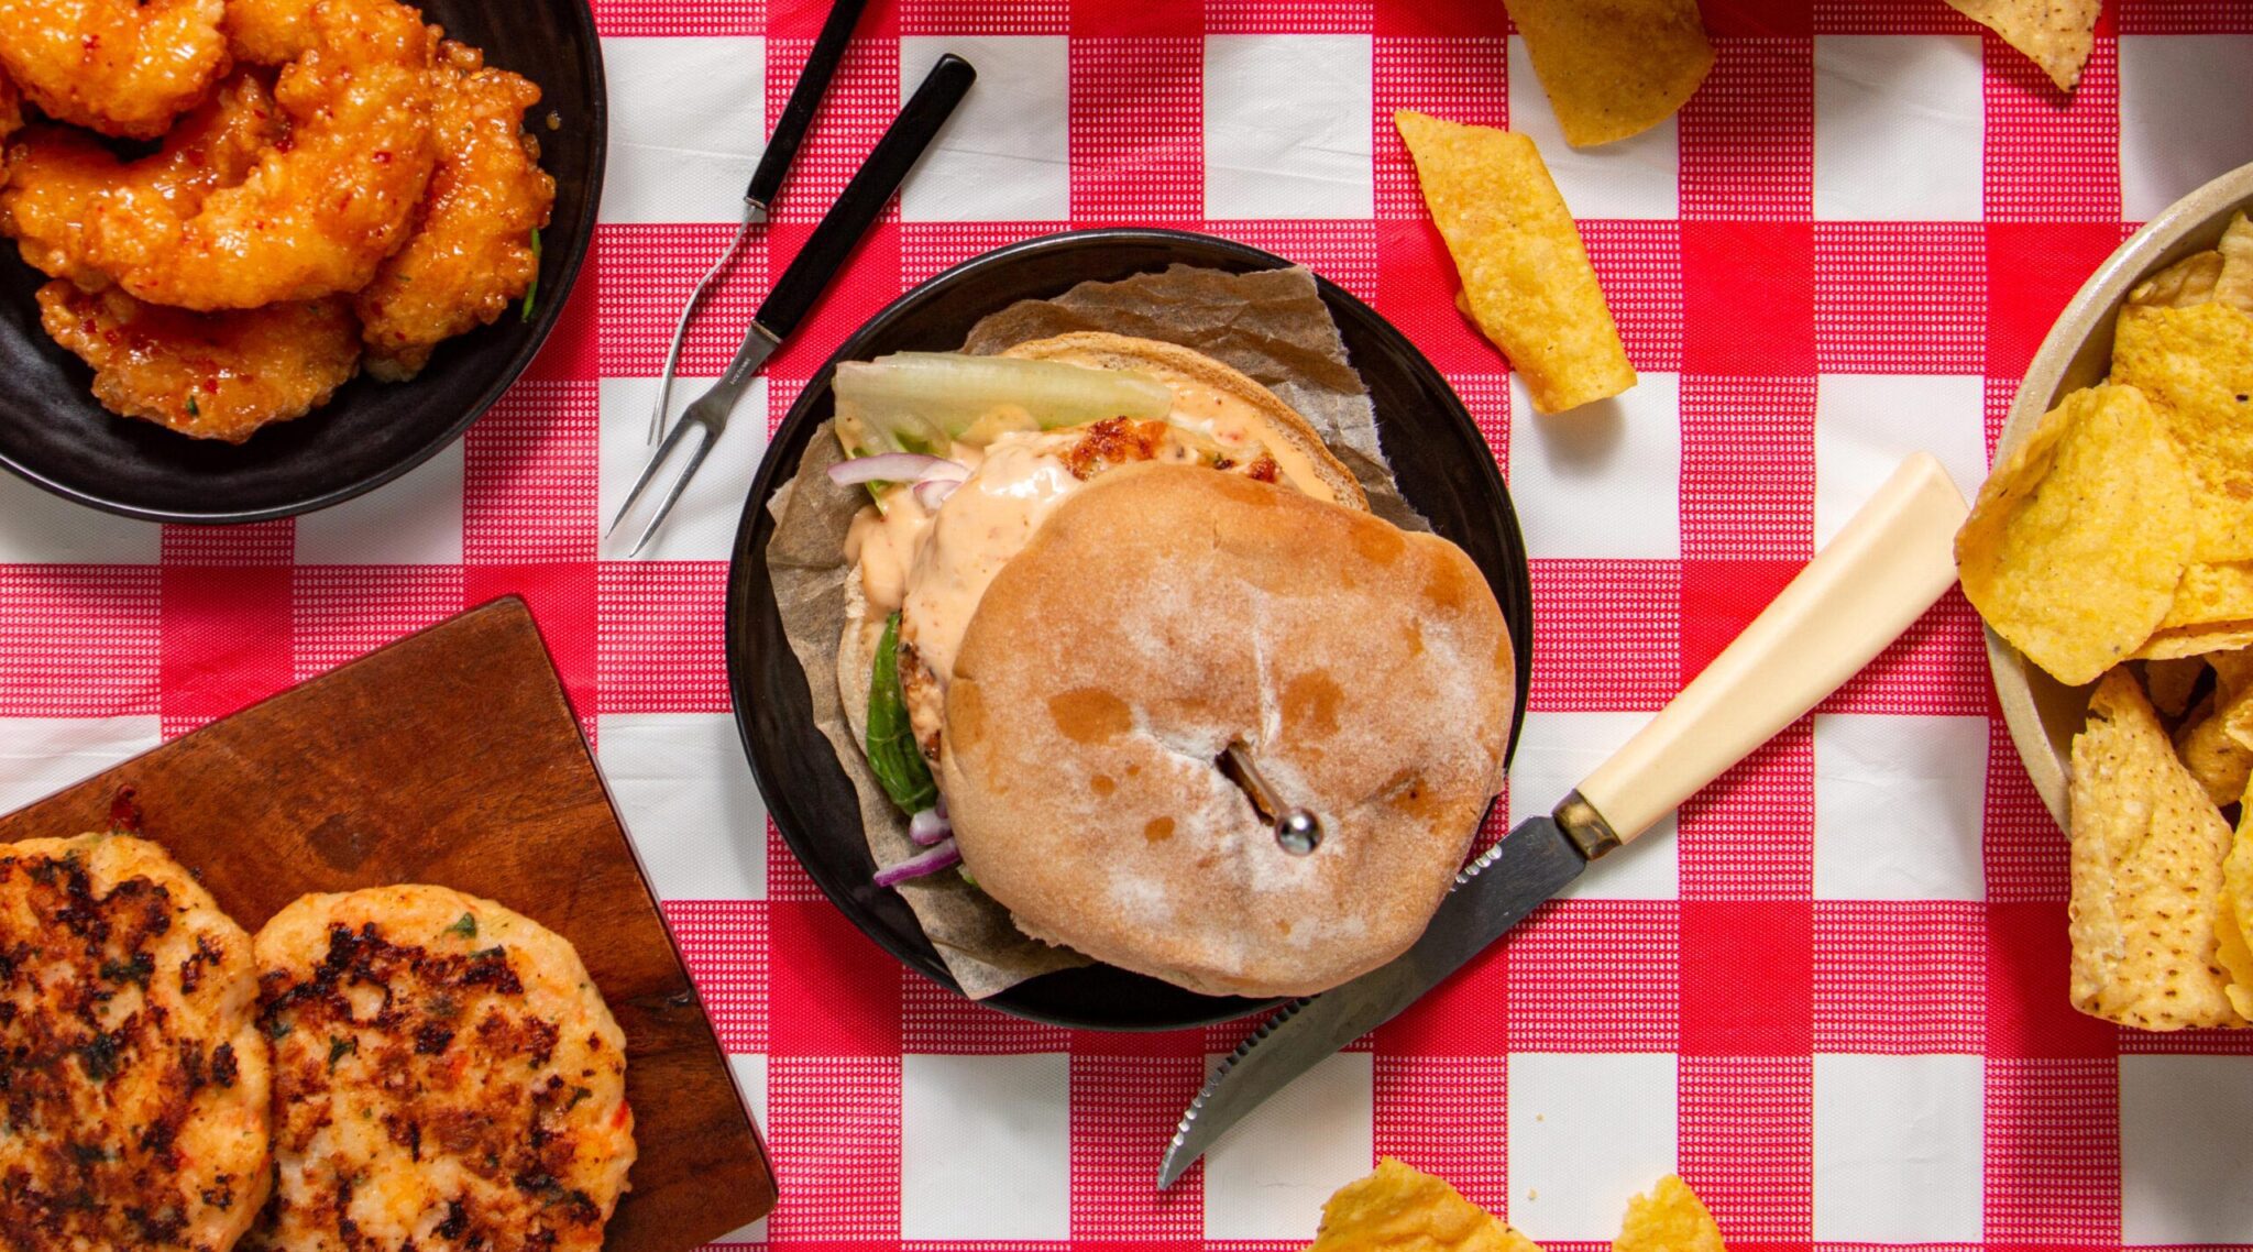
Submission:
M 924 74 L 924 86 L 915 88 L 908 97 L 906 108 L 892 119 L 892 126 L 876 140 L 876 149 L 867 153 L 867 162 L 852 182 L 845 185 L 845 194 L 838 203 L 829 207 L 829 214 L 813 227 L 807 236 L 807 245 L 798 250 L 791 268 L 782 270 L 775 279 L 773 290 L 766 293 L 766 304 L 753 318 L 777 340 L 791 338 L 798 322 L 804 320 L 813 302 L 820 299 L 829 279 L 845 268 L 845 259 L 852 257 L 854 245 L 867 234 L 867 227 L 876 225 L 883 216 L 883 205 L 890 203 L 892 191 L 899 191 L 901 180 L 915 169 L 915 162 L 937 137 L 940 126 L 953 117 L 955 106 L 978 81 L 978 70 L 969 61 L 955 56 L 953 52 L 940 56 L 937 65 Z

